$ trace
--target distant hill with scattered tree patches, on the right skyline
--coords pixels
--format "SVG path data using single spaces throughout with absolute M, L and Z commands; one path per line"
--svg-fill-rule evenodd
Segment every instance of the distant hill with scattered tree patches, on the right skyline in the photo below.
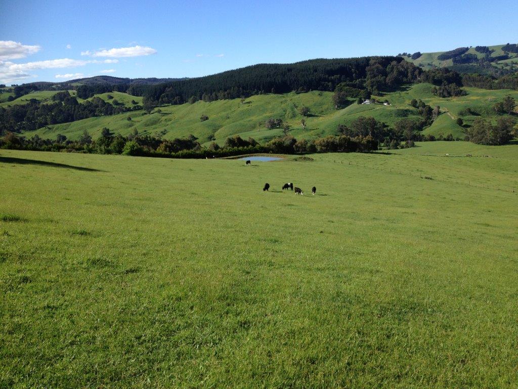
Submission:
M 469 46 L 433 53 L 400 53 L 423 69 L 448 67 L 459 73 L 503 75 L 518 71 L 518 45 Z

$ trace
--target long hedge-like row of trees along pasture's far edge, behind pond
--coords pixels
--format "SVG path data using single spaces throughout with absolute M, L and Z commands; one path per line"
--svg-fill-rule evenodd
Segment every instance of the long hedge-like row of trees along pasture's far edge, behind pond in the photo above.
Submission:
M 94 154 L 123 154 L 131 156 L 172 157 L 172 158 L 206 158 L 225 157 L 257 152 L 275 152 L 295 154 L 305 152 L 352 152 L 372 151 L 378 149 L 378 141 L 371 136 L 329 135 L 324 138 L 307 141 L 297 141 L 291 135 L 276 137 L 262 146 L 253 138 L 243 140 L 239 135 L 227 138 L 224 147 L 212 143 L 202 147 L 197 138 L 189 135 L 187 138 L 162 140 L 154 136 L 141 136 L 134 133 L 130 136 L 113 135 L 104 128 L 100 137 L 92 140 L 91 135 L 84 131 L 78 141 L 67 140 L 64 135 L 57 135 L 56 140 L 44 140 L 38 135 L 31 138 L 17 136 L 9 132 L 0 137 L 0 147 L 10 149 L 45 150 L 45 151 L 81 151 Z

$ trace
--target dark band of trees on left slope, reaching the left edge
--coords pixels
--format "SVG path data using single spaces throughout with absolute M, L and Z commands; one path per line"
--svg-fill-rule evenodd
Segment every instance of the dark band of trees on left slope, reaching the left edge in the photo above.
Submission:
M 122 112 L 142 109 L 114 106 L 98 97 L 79 103 L 68 91 L 60 92 L 52 103 L 41 103 L 31 99 L 27 104 L 0 107 L 0 134 L 36 130 L 51 124 L 66 123 L 94 116 L 116 115 Z

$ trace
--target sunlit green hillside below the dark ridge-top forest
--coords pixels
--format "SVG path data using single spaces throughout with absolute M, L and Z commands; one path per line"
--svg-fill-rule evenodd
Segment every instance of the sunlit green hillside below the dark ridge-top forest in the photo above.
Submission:
M 518 91 L 484 90 L 465 88 L 467 96 L 442 99 L 431 93 L 430 84 L 417 84 L 396 92 L 375 96 L 378 100 L 389 100 L 391 105 L 382 104 L 357 105 L 353 103 L 343 109 L 335 109 L 330 92 L 267 94 L 252 96 L 241 104 L 239 99 L 220 100 L 214 102 L 198 101 L 195 104 L 182 104 L 161 107 L 151 114 L 143 111 L 124 113 L 114 116 L 104 116 L 78 120 L 71 123 L 55 124 L 37 131 L 27 132 L 26 136 L 38 134 L 41 137 L 55 138 L 64 134 L 69 139 L 77 139 L 84 130 L 98 137 L 104 127 L 114 133 L 131 134 L 135 129 L 140 134 L 161 134 L 166 139 L 185 137 L 194 134 L 200 143 L 208 144 L 212 140 L 223 144 L 228 136 L 239 134 L 243 138 L 249 136 L 257 141 L 266 142 L 275 136 L 282 135 L 281 129 L 268 130 L 264 121 L 268 118 L 281 118 L 291 126 L 291 134 L 296 138 L 316 138 L 327 134 L 336 134 L 338 124 L 348 124 L 359 116 L 371 116 L 390 126 L 402 118 L 418 119 L 417 110 L 409 106 L 412 99 L 422 99 L 425 103 L 442 109 L 441 117 L 425 130 L 425 134 L 447 136 L 452 134 L 461 139 L 465 129 L 455 123 L 466 107 L 477 110 L 490 119 L 496 119 L 493 105 L 506 95 L 512 95 L 518 100 Z M 105 94 L 106 95 L 106 94 Z M 104 97 L 106 98 L 106 96 Z M 121 102 L 130 103 L 132 96 L 123 100 L 119 95 L 112 95 Z M 140 98 L 135 98 L 140 99 Z M 137 100 L 140 102 L 140 100 Z M 297 108 L 307 106 L 311 116 L 304 118 Z M 209 120 L 200 121 L 201 115 L 207 115 Z M 127 118 L 132 120 L 128 121 Z M 463 116 L 469 126 L 476 116 Z M 301 125 L 305 119 L 307 128 Z

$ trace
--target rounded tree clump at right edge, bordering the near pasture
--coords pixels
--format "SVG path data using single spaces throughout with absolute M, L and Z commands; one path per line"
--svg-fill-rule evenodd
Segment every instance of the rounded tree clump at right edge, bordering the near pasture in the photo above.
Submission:
M 498 118 L 496 124 L 484 118 L 477 118 L 467 132 L 473 143 L 482 145 L 503 145 L 513 138 L 511 118 Z

